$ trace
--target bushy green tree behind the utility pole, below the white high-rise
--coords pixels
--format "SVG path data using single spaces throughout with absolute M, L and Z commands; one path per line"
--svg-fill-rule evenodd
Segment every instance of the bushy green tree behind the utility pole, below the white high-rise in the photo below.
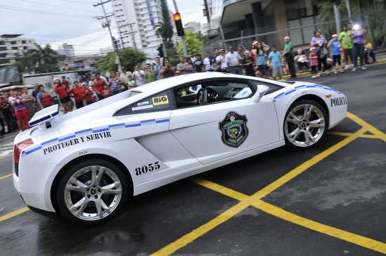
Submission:
M 119 60 L 122 67 L 126 67 L 129 71 L 134 70 L 134 66 L 146 60 L 146 54 L 135 48 L 127 47 L 118 51 Z M 115 64 L 115 54 L 108 53 L 106 57 L 100 59 L 96 67 L 101 72 L 111 72 L 118 70 L 118 65 Z

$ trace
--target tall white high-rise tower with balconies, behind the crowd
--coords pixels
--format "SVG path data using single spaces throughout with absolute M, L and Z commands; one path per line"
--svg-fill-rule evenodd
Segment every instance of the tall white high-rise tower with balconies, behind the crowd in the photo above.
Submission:
M 147 54 L 158 55 L 162 39 L 154 25 L 162 20 L 160 0 L 112 0 L 114 19 L 121 33 L 122 47 L 133 47 Z

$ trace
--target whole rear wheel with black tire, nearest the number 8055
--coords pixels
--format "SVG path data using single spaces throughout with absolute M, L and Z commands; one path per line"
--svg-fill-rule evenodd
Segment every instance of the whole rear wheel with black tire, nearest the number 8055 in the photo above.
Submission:
M 126 197 L 127 182 L 122 171 L 101 160 L 71 168 L 58 189 L 62 214 L 81 224 L 109 220 L 124 204 Z

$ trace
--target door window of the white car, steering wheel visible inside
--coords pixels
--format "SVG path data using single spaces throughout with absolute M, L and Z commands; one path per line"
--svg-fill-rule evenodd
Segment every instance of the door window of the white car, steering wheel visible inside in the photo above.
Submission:
M 173 90 L 177 108 L 214 104 L 252 97 L 253 89 L 246 80 L 208 80 L 189 83 Z

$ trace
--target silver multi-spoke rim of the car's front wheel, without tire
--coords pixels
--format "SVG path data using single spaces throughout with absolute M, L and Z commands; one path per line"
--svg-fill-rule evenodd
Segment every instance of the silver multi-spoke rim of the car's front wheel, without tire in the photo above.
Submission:
M 317 143 L 326 127 L 324 114 L 318 107 L 310 104 L 292 109 L 284 123 L 288 141 L 297 147 L 310 147 Z

